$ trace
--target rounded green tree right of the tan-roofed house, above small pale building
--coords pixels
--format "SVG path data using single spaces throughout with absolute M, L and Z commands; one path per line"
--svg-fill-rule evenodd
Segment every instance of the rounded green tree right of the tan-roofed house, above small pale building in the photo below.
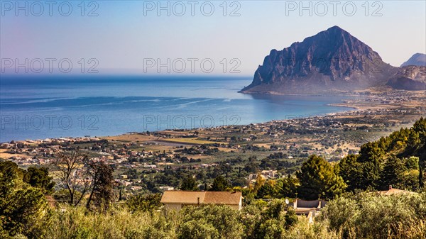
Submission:
M 329 162 L 317 155 L 311 155 L 303 162 L 296 175 L 300 182 L 297 191 L 302 199 L 332 199 L 346 188 L 342 177 L 334 172 Z

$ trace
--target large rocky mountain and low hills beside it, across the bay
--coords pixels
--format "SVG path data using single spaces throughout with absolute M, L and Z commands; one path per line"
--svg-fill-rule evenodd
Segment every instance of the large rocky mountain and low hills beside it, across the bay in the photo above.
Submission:
M 416 56 L 411 62 L 417 64 L 418 59 Z M 412 79 L 414 73 L 409 72 L 417 73 Z M 302 43 L 271 50 L 254 73 L 253 82 L 241 92 L 334 94 L 385 84 L 398 89 L 425 89 L 424 72 L 422 67 L 402 70 L 383 62 L 368 45 L 334 26 Z

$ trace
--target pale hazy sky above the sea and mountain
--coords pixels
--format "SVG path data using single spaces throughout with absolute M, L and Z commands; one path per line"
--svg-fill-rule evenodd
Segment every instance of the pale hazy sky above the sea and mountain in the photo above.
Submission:
M 393 66 L 426 52 L 422 0 L 0 4 L 2 73 L 253 76 L 272 49 L 332 26 Z

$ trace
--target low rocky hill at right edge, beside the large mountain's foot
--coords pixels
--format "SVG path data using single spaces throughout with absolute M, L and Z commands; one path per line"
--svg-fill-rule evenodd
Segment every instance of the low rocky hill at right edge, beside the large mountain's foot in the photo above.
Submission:
M 388 81 L 394 89 L 426 90 L 426 66 L 402 67 Z

